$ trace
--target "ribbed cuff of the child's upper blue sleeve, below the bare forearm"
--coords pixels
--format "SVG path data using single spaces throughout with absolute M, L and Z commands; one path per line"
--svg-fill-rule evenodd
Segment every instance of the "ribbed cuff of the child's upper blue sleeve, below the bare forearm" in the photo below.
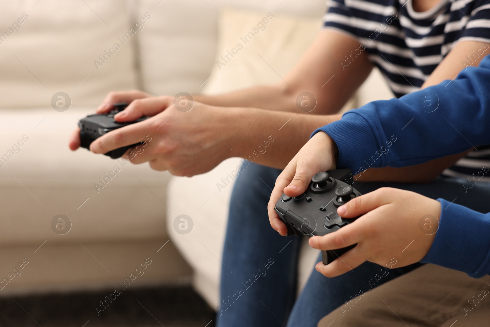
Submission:
M 311 135 L 319 131 L 327 133 L 339 148 L 337 167 L 350 168 L 354 175 L 371 167 L 382 167 L 383 152 L 388 148 L 378 147 L 380 137 L 372 128 L 374 124 L 356 110 L 359 109 L 346 112 L 342 120 L 322 126 Z

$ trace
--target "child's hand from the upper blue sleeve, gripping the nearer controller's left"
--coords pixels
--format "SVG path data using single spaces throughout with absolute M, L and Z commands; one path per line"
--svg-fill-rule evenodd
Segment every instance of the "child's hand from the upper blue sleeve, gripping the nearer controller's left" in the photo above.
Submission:
M 311 178 L 319 172 L 335 169 L 338 149 L 334 141 L 324 132 L 315 134 L 294 156 L 277 177 L 268 205 L 270 226 L 282 236 L 288 229 L 274 210 L 275 203 L 282 195 L 295 197 L 303 194 Z

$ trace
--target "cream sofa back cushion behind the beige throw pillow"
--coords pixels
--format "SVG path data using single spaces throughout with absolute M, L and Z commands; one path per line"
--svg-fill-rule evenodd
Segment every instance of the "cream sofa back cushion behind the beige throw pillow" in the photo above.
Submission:
M 139 15 L 145 12 L 152 15 L 146 30 L 139 35 L 141 59 L 138 63 L 147 92 L 172 96 L 181 91 L 191 94 L 201 92 L 215 65 L 219 25 L 225 24 L 225 28 L 236 31 L 243 23 L 234 21 L 231 16 L 224 17 L 221 10 L 226 7 L 259 10 L 261 18 L 272 12 L 274 15 L 289 14 L 319 21 L 325 10 L 325 2 L 141 0 Z

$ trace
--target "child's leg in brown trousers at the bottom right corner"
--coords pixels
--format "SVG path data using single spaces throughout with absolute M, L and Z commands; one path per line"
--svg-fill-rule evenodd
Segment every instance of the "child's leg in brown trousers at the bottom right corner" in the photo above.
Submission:
M 318 326 L 488 326 L 489 283 L 490 276 L 427 264 L 364 294 L 348 312 L 334 310 Z

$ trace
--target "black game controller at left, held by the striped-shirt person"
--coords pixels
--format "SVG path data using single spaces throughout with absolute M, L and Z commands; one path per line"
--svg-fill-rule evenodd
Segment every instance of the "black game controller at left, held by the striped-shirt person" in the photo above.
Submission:
M 134 122 L 118 123 L 114 120 L 114 115 L 120 111 L 123 111 L 127 107 L 127 103 L 114 103 L 114 109 L 106 114 L 102 115 L 88 115 L 87 117 L 80 119 L 78 127 L 80 127 L 80 147 L 90 149 L 90 144 L 94 142 L 98 137 L 124 126 L 128 126 L 134 123 L 143 122 L 148 117 L 141 117 Z M 113 159 L 117 159 L 124 154 L 129 148 L 141 145 L 144 142 L 128 145 L 119 149 L 111 150 L 105 155 L 110 156 Z

